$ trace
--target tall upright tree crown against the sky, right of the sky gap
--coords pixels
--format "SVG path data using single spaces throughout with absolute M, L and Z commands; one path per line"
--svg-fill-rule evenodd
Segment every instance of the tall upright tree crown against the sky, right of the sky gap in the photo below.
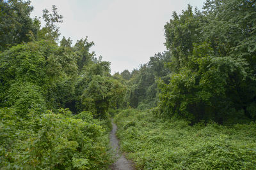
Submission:
M 172 19 L 164 25 L 165 46 L 172 53 L 172 71 L 179 71 L 186 66 L 188 55 L 193 52 L 193 43 L 199 42 L 200 12 L 193 13 L 192 6 L 177 15 L 173 12 Z

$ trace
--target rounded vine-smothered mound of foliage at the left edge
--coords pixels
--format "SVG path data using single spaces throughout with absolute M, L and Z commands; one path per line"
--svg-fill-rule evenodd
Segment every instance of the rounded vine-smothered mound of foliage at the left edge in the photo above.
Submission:
M 70 102 L 75 84 L 74 76 L 77 75 L 74 56 L 76 55 L 72 51 L 49 41 L 17 45 L 0 53 L 1 105 L 10 107 L 22 95 L 29 96 L 30 92 L 32 98 L 28 98 L 39 97 L 35 103 L 45 103 L 47 108 L 52 108 L 60 101 Z M 69 76 L 73 78 L 68 78 Z M 63 91 L 65 93 L 60 94 Z M 42 107 L 44 108 L 44 104 Z

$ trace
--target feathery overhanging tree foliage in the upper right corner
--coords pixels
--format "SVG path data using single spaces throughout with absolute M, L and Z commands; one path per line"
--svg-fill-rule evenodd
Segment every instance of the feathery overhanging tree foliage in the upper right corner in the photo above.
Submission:
M 221 0 L 205 2 L 204 15 L 207 26 L 203 37 L 209 40 L 218 55 L 243 57 L 255 66 L 255 3 L 253 1 Z M 244 48 L 245 44 L 246 48 Z M 250 45 L 249 45 L 250 44 Z

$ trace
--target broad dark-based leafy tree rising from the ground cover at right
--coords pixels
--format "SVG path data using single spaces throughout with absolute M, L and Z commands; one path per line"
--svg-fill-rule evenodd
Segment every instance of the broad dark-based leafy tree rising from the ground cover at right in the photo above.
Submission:
M 202 119 L 223 123 L 236 114 L 227 113 L 243 110 L 243 101 L 237 97 L 248 76 L 248 63 L 232 57 L 212 57 L 211 53 L 206 44 L 195 47 L 189 66 L 172 74 L 168 85 L 159 81 L 159 107 L 163 113 L 193 123 Z

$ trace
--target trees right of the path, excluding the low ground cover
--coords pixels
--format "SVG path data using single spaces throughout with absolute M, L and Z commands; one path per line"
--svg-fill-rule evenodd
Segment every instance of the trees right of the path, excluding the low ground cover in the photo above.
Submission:
M 164 25 L 167 51 L 114 75 L 127 80 L 125 101 L 191 124 L 255 120 L 255 16 L 250 0 L 207 0 L 202 11 L 173 12 Z

